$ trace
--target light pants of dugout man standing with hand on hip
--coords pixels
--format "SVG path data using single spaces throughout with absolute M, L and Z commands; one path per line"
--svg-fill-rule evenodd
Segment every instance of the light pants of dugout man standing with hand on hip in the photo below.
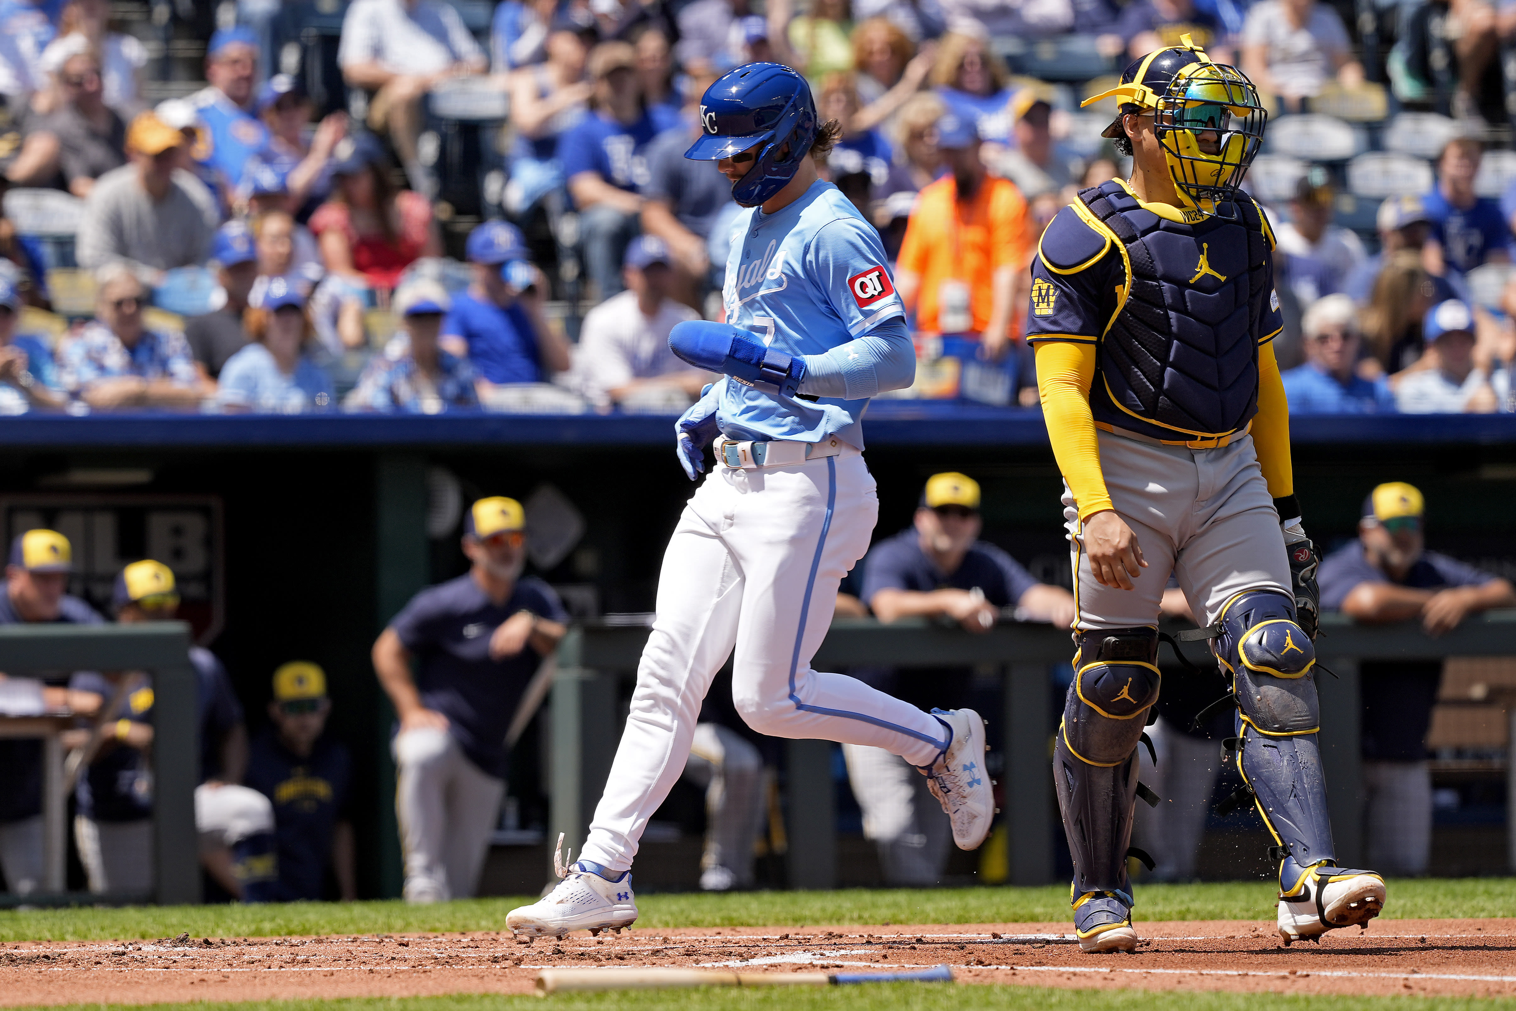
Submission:
M 447 731 L 406 731 L 393 747 L 406 902 L 473 897 L 505 781 L 468 761 Z

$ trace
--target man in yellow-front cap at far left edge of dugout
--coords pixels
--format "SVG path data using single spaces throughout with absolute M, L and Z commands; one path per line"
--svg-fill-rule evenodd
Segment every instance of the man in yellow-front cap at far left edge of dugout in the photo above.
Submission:
M 73 559 L 73 546 L 58 531 L 27 531 L 17 537 L 5 570 L 0 624 L 103 624 L 105 618 L 88 603 L 65 593 Z M 0 740 L 0 768 L 5 770 L 0 776 L 0 870 L 11 891 L 26 894 L 42 885 L 42 743 Z

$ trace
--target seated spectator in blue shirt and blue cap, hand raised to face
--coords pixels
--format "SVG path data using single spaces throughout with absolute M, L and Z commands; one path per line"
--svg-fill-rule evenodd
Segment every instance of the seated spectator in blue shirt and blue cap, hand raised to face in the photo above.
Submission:
M 464 256 L 473 282 L 453 296 L 438 344 L 473 362 L 479 396 L 494 385 L 547 382 L 568 371 L 568 346 L 543 317 L 546 282 L 528 262 L 520 229 L 485 221 L 468 233 Z

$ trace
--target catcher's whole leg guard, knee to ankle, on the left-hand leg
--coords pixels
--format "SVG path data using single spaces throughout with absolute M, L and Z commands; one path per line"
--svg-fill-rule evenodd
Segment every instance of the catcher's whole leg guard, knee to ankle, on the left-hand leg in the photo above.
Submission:
M 1158 631 L 1096 629 L 1078 632 L 1076 641 L 1076 673 L 1054 746 L 1054 787 L 1073 858 L 1072 897 L 1117 893 L 1129 908 L 1137 743 L 1158 700 Z

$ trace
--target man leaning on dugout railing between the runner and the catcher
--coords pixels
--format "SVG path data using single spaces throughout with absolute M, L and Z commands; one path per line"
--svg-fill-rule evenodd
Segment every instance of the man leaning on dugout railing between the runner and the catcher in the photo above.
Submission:
M 934 474 L 922 493 L 916 521 L 873 546 L 863 561 L 863 603 L 881 621 L 905 617 L 951 620 L 988 632 L 1005 608 L 1028 618 L 1073 623 L 1073 594 L 1022 568 L 994 544 L 981 541 L 979 484 L 966 474 Z M 914 705 L 957 708 L 969 703 L 973 671 L 854 670 L 854 678 Z M 926 778 L 905 759 L 878 747 L 843 744 L 854 796 L 863 808 L 864 835 L 879 847 L 891 885 L 935 884 L 948 858 L 952 829 L 928 794 Z

